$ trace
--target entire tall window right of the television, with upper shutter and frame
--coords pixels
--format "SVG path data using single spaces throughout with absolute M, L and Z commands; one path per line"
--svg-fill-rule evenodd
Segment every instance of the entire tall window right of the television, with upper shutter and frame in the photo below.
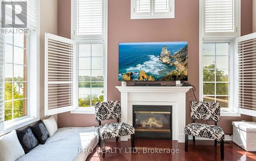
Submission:
M 219 102 L 221 116 L 240 116 L 235 83 L 240 0 L 199 2 L 200 101 Z

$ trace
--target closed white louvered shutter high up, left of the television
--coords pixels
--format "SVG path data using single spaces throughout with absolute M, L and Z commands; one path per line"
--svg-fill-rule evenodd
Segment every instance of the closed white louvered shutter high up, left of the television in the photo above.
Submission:
M 76 35 L 102 37 L 103 0 L 76 0 Z

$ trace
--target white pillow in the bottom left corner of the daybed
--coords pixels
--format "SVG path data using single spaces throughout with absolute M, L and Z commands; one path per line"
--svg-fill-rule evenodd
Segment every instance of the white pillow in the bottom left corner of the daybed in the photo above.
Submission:
M 25 152 L 22 145 L 19 144 L 15 130 L 0 137 L 0 160 L 12 161 L 24 154 Z

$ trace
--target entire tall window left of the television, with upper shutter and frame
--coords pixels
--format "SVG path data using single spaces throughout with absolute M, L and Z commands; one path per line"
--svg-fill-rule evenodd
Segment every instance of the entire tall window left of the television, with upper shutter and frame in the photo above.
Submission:
M 95 102 L 106 100 L 108 1 L 72 3 L 72 38 L 76 43 L 77 105 L 72 113 L 94 113 Z M 75 102 L 75 101 L 74 101 Z

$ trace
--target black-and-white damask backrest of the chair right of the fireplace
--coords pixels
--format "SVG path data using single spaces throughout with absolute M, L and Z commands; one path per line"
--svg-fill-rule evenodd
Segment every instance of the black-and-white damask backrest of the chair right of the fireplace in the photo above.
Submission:
M 219 102 L 190 102 L 191 119 L 220 122 L 220 114 L 221 110 Z

